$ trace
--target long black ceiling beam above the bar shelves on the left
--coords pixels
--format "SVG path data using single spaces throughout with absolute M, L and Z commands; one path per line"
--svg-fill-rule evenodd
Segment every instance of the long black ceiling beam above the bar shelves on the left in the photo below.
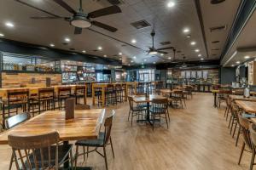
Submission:
M 67 51 L 57 48 L 49 48 L 41 45 L 17 42 L 13 40 L 0 38 L 0 52 L 12 54 L 36 55 L 48 59 L 65 59 L 102 65 L 121 65 L 117 59 L 105 59 L 100 56 L 81 54 L 75 51 Z

